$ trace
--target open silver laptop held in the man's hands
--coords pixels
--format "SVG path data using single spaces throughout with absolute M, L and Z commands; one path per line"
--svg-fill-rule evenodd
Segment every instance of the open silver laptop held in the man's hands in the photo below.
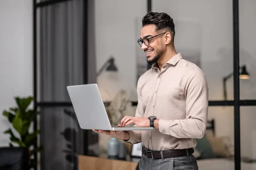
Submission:
M 67 86 L 81 129 L 87 130 L 153 130 L 153 127 L 111 126 L 97 84 Z

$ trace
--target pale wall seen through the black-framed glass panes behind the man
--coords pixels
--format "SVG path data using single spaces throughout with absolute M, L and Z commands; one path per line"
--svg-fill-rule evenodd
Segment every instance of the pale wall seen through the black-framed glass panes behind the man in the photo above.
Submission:
M 256 1 L 240 2 L 240 63 L 246 64 L 250 80 L 241 80 L 241 99 L 256 99 Z M 175 22 L 177 52 L 200 56 L 200 67 L 209 84 L 209 100 L 223 100 L 222 78 L 233 71 L 232 1 L 227 0 L 153 0 L 152 11 L 166 12 Z M 218 12 L 217 12 L 218 11 Z M 121 88 L 136 90 L 137 23 L 146 14 L 146 2 L 96 0 L 97 70 L 110 55 L 120 71 L 100 75 L 98 84 L 103 99 L 111 100 Z M 227 81 L 228 99 L 233 100 L 233 77 Z M 136 93 L 135 93 L 136 95 Z M 132 98 L 135 98 L 134 95 Z M 256 158 L 256 107 L 241 108 L 241 154 Z M 216 135 L 229 135 L 233 141 L 233 107 L 209 107 L 209 119 L 216 120 Z M 245 121 L 249 120 L 247 124 Z M 254 142 L 253 142 L 254 141 Z M 252 149 L 254 148 L 254 149 Z

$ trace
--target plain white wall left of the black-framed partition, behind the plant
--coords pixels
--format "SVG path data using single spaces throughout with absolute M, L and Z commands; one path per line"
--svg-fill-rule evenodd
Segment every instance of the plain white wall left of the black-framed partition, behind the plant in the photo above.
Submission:
M 32 95 L 32 0 L 0 0 L 0 146 L 9 146 L 3 109 Z

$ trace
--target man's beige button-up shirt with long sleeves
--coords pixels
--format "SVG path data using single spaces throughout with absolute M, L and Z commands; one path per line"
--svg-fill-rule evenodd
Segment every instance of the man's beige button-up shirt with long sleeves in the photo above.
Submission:
M 145 72 L 137 84 L 136 117 L 154 115 L 159 130 L 128 131 L 128 143 L 142 142 L 150 150 L 195 148 L 206 131 L 208 86 L 202 70 L 178 53 Z

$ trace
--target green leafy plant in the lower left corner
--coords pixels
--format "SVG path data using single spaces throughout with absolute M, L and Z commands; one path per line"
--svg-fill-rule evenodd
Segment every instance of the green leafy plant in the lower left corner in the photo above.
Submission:
M 15 97 L 15 101 L 17 106 L 11 107 L 9 110 L 4 110 L 3 115 L 8 118 L 13 129 L 17 131 L 18 136 L 14 135 L 12 128 L 4 131 L 4 133 L 10 135 L 10 147 L 14 147 L 13 143 L 19 147 L 27 147 L 29 156 L 32 156 L 42 150 L 42 147 L 35 147 L 33 150 L 30 150 L 31 146 L 35 143 L 39 130 L 29 133 L 29 128 L 39 112 L 29 109 L 29 105 L 34 101 L 34 98 L 31 96 L 26 98 Z M 37 160 L 30 158 L 29 162 L 30 167 L 36 167 Z

